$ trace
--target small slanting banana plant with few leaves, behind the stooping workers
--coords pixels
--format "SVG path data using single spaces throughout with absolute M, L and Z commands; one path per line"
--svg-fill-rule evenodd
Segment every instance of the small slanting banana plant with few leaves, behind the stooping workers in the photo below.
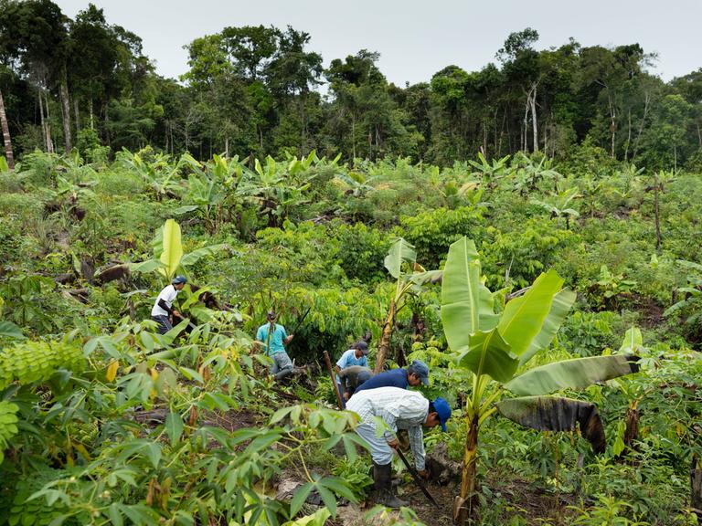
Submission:
M 417 251 L 402 237 L 397 237 L 385 257 L 385 268 L 390 276 L 397 279 L 395 293 L 390 298 L 388 314 L 378 343 L 378 356 L 375 372 L 383 370 L 390 350 L 390 338 L 399 310 L 407 305 L 407 299 L 421 293 L 422 287 L 441 279 L 441 270 L 425 270 L 417 263 Z

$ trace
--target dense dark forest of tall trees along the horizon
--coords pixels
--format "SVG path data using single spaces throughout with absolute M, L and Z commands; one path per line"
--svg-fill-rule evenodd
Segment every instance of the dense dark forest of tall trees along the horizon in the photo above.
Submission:
M 315 150 L 446 166 L 476 152 L 564 156 L 586 142 L 654 169 L 702 165 L 702 70 L 665 83 L 636 43 L 571 38 L 539 50 L 527 28 L 479 71 L 446 65 L 402 87 L 376 51 L 324 68 L 303 31 L 228 26 L 192 41 L 186 73 L 164 79 L 141 38 L 94 5 L 75 20 L 50 0 L 2 0 L 0 12 L 0 100 L 15 154 L 150 144 L 200 159 Z

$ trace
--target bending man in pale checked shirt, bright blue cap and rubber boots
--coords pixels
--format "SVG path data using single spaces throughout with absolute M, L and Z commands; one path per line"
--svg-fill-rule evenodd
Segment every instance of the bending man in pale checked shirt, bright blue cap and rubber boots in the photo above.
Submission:
M 356 433 L 370 446 L 373 459 L 373 480 L 376 500 L 388 508 L 407 506 L 392 492 L 392 456 L 399 447 L 397 433 L 406 429 L 414 455 L 414 465 L 420 477 L 429 479 L 424 466 L 424 433 L 422 427 L 441 426 L 446 431 L 446 421 L 451 417 L 451 407 L 443 398 L 430 402 L 418 391 L 407 391 L 399 387 L 378 387 L 356 391 L 346 409 L 360 417 Z M 377 418 L 386 428 L 378 429 Z M 382 434 L 381 434 L 382 432 Z

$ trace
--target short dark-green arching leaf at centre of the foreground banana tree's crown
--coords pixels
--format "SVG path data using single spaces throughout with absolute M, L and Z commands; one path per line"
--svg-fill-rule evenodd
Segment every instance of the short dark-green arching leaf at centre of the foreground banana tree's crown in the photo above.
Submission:
M 507 382 L 514 376 L 519 360 L 495 328 L 471 334 L 471 343 L 459 356 L 458 363 L 478 376 L 488 374 L 498 382 Z

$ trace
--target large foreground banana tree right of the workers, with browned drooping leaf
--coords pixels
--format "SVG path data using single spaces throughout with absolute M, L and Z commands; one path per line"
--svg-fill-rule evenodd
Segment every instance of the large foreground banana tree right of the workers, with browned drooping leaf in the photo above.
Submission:
M 596 451 L 604 448 L 604 431 L 594 405 L 546 396 L 563 388 L 582 388 L 637 371 L 631 356 L 597 356 L 537 367 L 516 376 L 534 355 L 548 348 L 575 301 L 561 289 L 554 270 L 541 274 L 527 292 L 495 312 L 493 293 L 484 286 L 473 241 L 452 244 L 443 271 L 441 321 L 459 367 L 473 372 L 473 391 L 466 402 L 467 437 L 463 450 L 461 494 L 453 507 L 454 521 L 469 521 L 476 489 L 478 432 L 499 410 L 524 426 L 541 430 L 573 430 Z M 495 401 L 509 391 L 518 398 Z

